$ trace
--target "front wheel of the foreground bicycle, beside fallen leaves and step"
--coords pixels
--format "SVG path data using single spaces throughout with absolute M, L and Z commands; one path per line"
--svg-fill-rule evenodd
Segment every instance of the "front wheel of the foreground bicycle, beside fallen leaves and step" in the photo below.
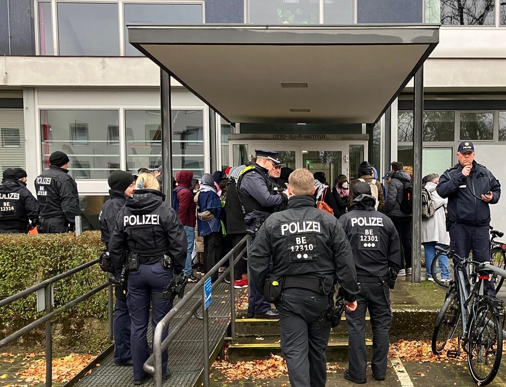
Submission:
M 456 292 L 446 297 L 436 318 L 434 333 L 432 334 L 432 352 L 440 355 L 448 350 L 448 341 L 453 337 L 460 322 L 460 302 Z

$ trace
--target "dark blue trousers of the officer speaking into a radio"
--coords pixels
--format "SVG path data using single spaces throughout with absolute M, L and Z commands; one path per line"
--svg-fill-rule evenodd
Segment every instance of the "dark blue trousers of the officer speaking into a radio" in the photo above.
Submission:
M 478 262 L 490 262 L 490 229 L 488 226 L 470 226 L 461 223 L 450 225 L 450 246 L 455 249 L 459 257 L 469 257 L 473 251 L 473 260 Z M 468 278 L 466 272 L 464 277 Z M 468 282 L 469 284 L 469 282 Z M 487 281 L 483 283 L 484 293 L 495 297 L 495 285 Z M 468 291 L 470 287 L 468 286 Z

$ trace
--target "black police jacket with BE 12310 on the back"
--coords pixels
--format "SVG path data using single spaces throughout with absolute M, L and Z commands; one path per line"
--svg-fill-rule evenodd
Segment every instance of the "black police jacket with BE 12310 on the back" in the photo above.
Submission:
M 318 210 L 312 196 L 292 197 L 288 209 L 267 218 L 252 245 L 248 266 L 261 292 L 268 274 L 333 276 L 348 301 L 354 301 L 360 291 L 343 227 L 334 216 Z

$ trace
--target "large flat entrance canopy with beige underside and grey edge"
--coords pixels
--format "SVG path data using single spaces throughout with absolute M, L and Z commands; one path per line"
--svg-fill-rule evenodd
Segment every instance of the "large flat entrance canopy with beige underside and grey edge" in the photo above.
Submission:
M 129 25 L 129 42 L 232 123 L 374 123 L 438 25 Z

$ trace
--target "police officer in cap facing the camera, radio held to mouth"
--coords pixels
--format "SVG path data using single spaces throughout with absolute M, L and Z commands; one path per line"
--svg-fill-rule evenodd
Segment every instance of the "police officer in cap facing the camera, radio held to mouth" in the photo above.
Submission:
M 490 261 L 490 204 L 496 204 L 501 196 L 501 185 L 485 166 L 475 161 L 475 149 L 471 141 L 458 145 L 458 163 L 447 169 L 436 188 L 439 196 L 448 198 L 448 226 L 450 246 L 460 257 Z M 485 294 L 495 296 L 493 282 L 485 286 Z M 488 289 L 487 289 L 488 288 Z

